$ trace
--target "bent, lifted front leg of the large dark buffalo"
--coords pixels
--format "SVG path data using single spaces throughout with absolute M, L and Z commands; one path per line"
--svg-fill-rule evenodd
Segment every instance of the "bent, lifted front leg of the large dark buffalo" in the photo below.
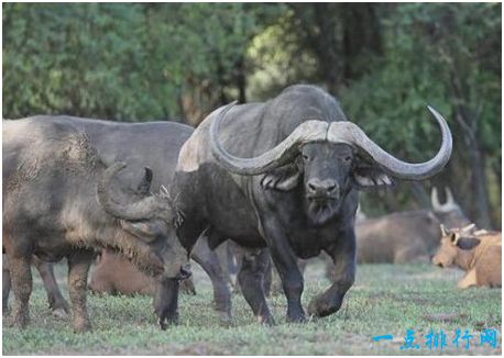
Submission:
M 308 305 L 308 313 L 324 317 L 337 312 L 343 303 L 343 297 L 355 279 L 355 236 L 353 230 L 342 232 L 335 244 L 326 249 L 335 264 L 332 284 L 315 297 Z

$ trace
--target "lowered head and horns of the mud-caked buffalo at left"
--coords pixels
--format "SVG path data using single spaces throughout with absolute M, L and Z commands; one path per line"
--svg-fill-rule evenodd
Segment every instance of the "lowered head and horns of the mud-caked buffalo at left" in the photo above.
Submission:
M 164 278 L 184 279 L 190 275 L 188 253 L 180 245 L 176 228 L 183 221 L 175 201 L 166 188 L 161 187 L 158 193 L 150 191 L 152 170 L 145 168 L 145 176 L 136 192 L 125 193 L 112 184 L 116 175 L 125 168 L 125 164 L 116 163 L 102 174 L 98 187 L 98 201 L 103 210 L 119 221 L 121 230 L 136 240 L 131 247 L 121 244 L 121 249 L 142 253 L 145 269 Z M 119 200 L 121 198 L 121 200 Z M 120 203 L 120 202 L 125 203 Z M 121 235 L 119 235 L 121 236 Z M 129 248 L 131 247 L 131 248 Z M 134 260 L 134 257 L 132 257 Z M 139 260 L 138 260 L 139 261 Z M 140 264 L 142 266 L 142 264 Z M 145 265 L 145 264 L 143 264 Z

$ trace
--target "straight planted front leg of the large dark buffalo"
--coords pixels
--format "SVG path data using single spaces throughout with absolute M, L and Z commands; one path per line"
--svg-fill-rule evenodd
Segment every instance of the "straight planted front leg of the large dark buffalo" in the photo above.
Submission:
M 263 227 L 273 264 L 278 271 L 287 298 L 287 321 L 303 322 L 305 321 L 305 311 L 302 306 L 304 281 L 297 257 L 278 223 L 266 220 Z

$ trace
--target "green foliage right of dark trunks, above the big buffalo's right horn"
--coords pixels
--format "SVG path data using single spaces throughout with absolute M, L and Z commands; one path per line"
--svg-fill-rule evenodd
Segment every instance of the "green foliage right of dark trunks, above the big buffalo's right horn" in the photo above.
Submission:
M 464 101 L 475 111 L 481 108 L 479 124 L 484 146 L 500 150 L 500 131 L 495 130 L 501 122 L 501 105 L 496 101 L 501 80 L 494 71 L 495 66 L 500 68 L 500 57 L 492 52 L 492 58 L 478 58 L 483 42 L 495 41 L 498 34 L 500 13 L 495 10 L 495 4 L 399 7 L 397 14 L 385 22 L 386 57 L 342 93 L 347 111 L 355 121 L 362 119 L 362 125 L 373 137 L 392 150 L 421 158 L 430 155 L 424 148 L 434 148 L 437 143 L 431 135 L 437 132 L 436 126 L 425 120 L 426 104 L 438 109 L 457 127 L 453 108 L 459 103 L 454 100 Z M 481 63 L 489 60 L 494 63 L 493 68 Z M 457 99 L 451 92 L 453 71 L 463 77 L 463 98 Z

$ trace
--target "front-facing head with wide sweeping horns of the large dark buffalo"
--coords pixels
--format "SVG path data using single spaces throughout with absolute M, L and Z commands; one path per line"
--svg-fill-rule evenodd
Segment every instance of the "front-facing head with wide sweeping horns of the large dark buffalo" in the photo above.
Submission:
M 244 176 L 264 175 L 264 189 L 288 191 L 303 183 L 305 209 L 316 225 L 331 219 L 351 189 L 392 184 L 392 178 L 428 178 L 447 164 L 452 138 L 445 119 L 432 108 L 442 143 L 437 155 L 421 164 L 402 161 L 372 142 L 354 123 L 310 120 L 299 124 L 274 148 L 254 158 L 229 154 L 218 141 L 219 125 L 231 103 L 210 126 L 210 145 L 216 159 L 229 171 Z

